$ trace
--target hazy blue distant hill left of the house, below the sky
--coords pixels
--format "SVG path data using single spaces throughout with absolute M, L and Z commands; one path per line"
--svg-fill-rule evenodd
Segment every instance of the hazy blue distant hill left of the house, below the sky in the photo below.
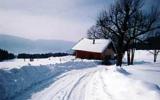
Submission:
M 30 40 L 0 34 L 0 48 L 12 53 L 67 52 L 75 43 L 64 40 Z

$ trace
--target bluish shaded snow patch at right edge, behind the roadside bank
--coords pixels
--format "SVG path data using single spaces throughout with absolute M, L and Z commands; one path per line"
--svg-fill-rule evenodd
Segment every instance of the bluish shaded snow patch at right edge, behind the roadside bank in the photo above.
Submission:
M 160 87 L 160 63 L 143 64 L 124 67 L 130 77 L 140 79 Z

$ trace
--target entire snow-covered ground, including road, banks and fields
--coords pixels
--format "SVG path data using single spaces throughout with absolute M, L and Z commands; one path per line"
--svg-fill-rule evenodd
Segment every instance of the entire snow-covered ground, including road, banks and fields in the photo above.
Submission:
M 124 60 L 126 60 L 124 58 Z M 73 56 L 0 63 L 0 100 L 160 100 L 160 56 L 117 68 Z

